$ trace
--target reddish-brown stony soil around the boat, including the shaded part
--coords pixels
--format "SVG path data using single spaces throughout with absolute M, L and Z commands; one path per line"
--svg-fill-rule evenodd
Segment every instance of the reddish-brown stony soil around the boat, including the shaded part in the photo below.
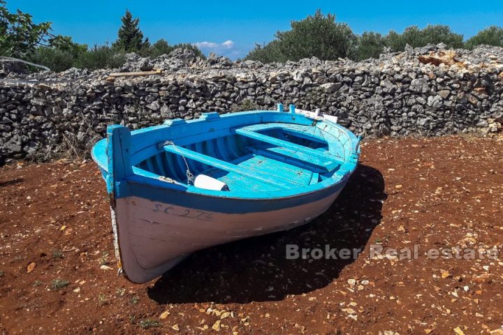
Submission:
M 0 168 L 1 334 L 503 334 L 503 142 L 370 140 L 340 198 L 312 223 L 191 255 L 151 283 L 116 275 L 94 163 Z M 286 244 L 363 248 L 286 260 Z M 418 248 L 371 258 L 371 245 Z M 466 254 L 465 254 L 466 255 Z M 466 256 L 465 256 L 466 257 Z

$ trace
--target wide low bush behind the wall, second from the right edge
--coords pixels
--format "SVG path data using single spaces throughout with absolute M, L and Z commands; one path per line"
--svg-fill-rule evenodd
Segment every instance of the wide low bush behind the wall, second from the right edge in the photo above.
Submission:
M 386 36 L 386 45 L 394 52 L 405 50 L 408 44 L 411 47 L 423 47 L 428 43 L 445 43 L 447 47 L 463 47 L 463 36 L 455 34 L 449 26 L 442 24 L 428 25 L 424 29 L 417 26 L 407 27 L 402 34 L 390 31 Z

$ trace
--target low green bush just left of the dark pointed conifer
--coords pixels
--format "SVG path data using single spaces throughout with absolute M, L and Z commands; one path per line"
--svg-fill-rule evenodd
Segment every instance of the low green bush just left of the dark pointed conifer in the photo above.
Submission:
M 126 54 L 122 51 L 114 50 L 108 45 L 94 45 L 91 50 L 81 54 L 75 60 L 76 68 L 120 68 L 126 62 Z

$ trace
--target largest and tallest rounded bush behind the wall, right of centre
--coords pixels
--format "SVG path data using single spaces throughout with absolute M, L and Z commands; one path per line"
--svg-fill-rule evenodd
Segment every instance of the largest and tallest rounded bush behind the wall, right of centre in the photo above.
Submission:
M 347 24 L 335 22 L 335 15 L 323 15 L 320 10 L 304 20 L 291 22 L 291 30 L 278 31 L 275 37 L 268 45 L 257 45 L 245 59 L 268 63 L 309 57 L 352 57 L 357 43 L 356 35 Z

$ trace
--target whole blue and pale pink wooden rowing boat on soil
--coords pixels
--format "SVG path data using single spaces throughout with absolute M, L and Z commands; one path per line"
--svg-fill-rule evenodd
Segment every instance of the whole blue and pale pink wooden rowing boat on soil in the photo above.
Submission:
M 130 132 L 92 150 L 106 181 L 119 271 L 145 283 L 194 251 L 311 221 L 358 163 L 360 137 L 291 105 Z

